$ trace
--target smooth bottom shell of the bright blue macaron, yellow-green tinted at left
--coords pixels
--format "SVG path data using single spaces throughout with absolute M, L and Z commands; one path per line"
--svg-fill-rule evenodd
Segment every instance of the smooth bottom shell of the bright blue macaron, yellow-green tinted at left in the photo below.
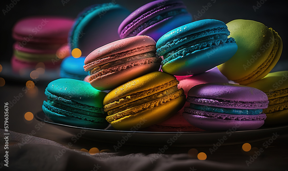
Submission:
M 186 49 L 189 51 L 189 48 Z M 204 73 L 206 70 L 229 60 L 236 51 L 237 45 L 235 43 L 207 47 L 187 53 L 185 56 L 174 56 L 174 59 L 162 66 L 162 70 L 173 75 L 187 75 L 187 71 L 192 74 Z

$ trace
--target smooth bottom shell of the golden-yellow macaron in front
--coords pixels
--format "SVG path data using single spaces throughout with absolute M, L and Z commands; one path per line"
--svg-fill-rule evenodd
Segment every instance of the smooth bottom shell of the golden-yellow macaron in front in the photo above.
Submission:
M 118 130 L 132 131 L 133 127 L 139 124 L 141 125 L 140 128 L 143 129 L 145 127 L 166 120 L 167 118 L 175 114 L 178 110 L 180 110 L 184 103 L 185 103 L 185 96 L 180 96 L 177 99 L 168 101 L 167 103 L 164 103 L 157 107 L 152 107 L 142 112 L 125 116 L 124 118 L 120 118 L 119 120 L 116 121 L 112 121 L 111 125 L 112 127 Z

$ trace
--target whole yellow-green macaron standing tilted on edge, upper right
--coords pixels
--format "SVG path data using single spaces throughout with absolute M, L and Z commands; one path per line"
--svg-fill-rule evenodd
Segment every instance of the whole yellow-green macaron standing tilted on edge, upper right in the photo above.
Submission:
M 281 37 L 257 21 L 237 19 L 227 26 L 238 50 L 230 60 L 218 66 L 221 73 L 241 85 L 265 77 L 281 56 Z

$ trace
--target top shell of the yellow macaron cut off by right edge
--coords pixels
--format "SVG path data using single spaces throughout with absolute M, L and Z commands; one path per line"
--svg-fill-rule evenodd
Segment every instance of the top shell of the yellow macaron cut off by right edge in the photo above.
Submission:
M 288 71 L 278 71 L 274 73 L 269 73 L 262 79 L 255 81 L 253 83 L 250 83 L 247 86 L 257 88 L 266 93 L 273 92 L 276 90 L 287 89 L 288 88 Z M 279 97 L 280 96 L 281 94 L 279 94 Z

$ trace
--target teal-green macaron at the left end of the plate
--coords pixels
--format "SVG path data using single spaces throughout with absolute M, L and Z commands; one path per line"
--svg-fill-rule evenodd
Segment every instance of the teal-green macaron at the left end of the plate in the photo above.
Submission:
M 56 123 L 104 129 L 109 124 L 103 109 L 106 94 L 85 81 L 60 78 L 48 84 L 47 101 L 43 102 L 42 109 Z

